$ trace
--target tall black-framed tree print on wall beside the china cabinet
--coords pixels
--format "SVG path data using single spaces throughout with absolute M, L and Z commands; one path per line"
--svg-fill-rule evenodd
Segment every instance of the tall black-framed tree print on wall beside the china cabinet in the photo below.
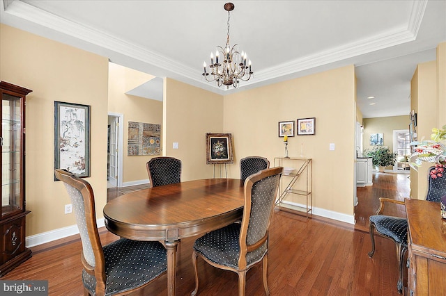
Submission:
M 90 106 L 54 101 L 54 170 L 90 176 Z M 56 177 L 54 180 L 57 181 Z

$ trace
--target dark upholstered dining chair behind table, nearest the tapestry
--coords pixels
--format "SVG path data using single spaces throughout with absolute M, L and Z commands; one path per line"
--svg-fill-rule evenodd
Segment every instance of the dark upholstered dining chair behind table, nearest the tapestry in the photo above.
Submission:
M 181 161 L 174 157 L 154 157 L 147 162 L 148 180 L 151 187 L 181 182 Z

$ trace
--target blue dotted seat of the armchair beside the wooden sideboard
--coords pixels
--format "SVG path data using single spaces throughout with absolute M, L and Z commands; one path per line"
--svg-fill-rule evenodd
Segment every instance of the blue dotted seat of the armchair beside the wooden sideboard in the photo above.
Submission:
M 393 238 L 396 242 L 407 247 L 407 220 L 406 218 L 392 217 L 386 215 L 370 216 L 370 222 L 373 222 L 376 231 Z

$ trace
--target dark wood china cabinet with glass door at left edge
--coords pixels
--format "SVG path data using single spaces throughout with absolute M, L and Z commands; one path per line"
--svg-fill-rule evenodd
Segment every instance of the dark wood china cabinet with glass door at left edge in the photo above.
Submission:
M 0 81 L 0 277 L 31 257 L 25 247 L 25 104 L 31 91 Z

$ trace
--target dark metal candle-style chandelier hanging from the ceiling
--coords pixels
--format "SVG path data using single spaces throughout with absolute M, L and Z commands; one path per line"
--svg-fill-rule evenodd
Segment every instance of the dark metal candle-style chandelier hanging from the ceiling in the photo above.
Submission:
M 228 12 L 228 36 L 226 38 L 226 45 L 223 47 L 217 46 L 215 51 L 215 63 L 214 55 L 210 53 L 210 65 L 208 71 L 206 62 L 203 63 L 203 76 L 208 82 L 217 82 L 218 87 L 226 85 L 237 87 L 241 81 L 248 81 L 254 72 L 251 71 L 251 60 L 246 65 L 247 54 L 245 51 L 238 52 L 238 44 L 233 47 L 229 45 L 229 19 L 231 17 L 230 12 L 234 9 L 233 3 L 224 4 L 224 10 Z M 221 60 L 222 63 L 219 63 Z

